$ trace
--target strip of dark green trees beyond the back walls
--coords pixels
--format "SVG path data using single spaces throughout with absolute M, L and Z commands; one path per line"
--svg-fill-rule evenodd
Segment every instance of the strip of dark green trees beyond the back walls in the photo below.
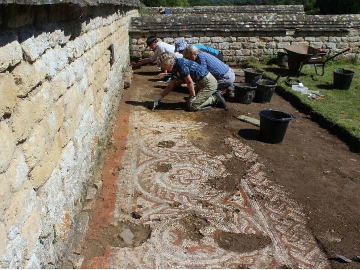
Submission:
M 141 0 L 145 6 L 303 5 L 306 14 L 359 14 L 359 0 Z

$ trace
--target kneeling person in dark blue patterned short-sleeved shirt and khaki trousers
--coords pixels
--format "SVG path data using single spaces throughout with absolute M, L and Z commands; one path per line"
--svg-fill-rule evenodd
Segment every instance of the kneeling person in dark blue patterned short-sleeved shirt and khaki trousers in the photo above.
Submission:
M 216 91 L 214 76 L 204 67 L 188 59 L 176 58 L 170 53 L 162 53 L 158 59 L 159 67 L 172 73 L 174 78 L 154 101 L 153 109 L 176 86 L 178 80 L 184 80 L 189 89 L 189 111 L 198 111 L 210 105 L 226 108 L 225 99 Z M 193 82 L 196 83 L 194 86 Z

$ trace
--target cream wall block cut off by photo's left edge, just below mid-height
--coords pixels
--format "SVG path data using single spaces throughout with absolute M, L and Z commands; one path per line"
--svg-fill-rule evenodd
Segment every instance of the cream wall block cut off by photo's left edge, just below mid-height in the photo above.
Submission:
M 8 125 L 6 125 L 6 123 L 3 121 L 0 122 L 0 145 L 0 172 L 3 172 L 9 166 L 10 160 L 15 150 L 14 135 L 12 134 Z

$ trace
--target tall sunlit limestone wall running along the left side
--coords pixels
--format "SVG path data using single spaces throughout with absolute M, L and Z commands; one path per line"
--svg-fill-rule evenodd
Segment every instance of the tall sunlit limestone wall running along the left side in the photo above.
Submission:
M 66 251 L 121 98 L 136 15 L 0 4 L 1 268 L 53 268 Z

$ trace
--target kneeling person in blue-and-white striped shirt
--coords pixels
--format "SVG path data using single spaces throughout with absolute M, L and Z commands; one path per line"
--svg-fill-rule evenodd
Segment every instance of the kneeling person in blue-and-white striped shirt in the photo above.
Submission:
M 220 93 L 228 89 L 235 81 L 235 73 L 227 64 L 204 51 L 198 50 L 194 45 L 186 46 L 183 56 L 200 64 L 216 78 L 217 91 Z

